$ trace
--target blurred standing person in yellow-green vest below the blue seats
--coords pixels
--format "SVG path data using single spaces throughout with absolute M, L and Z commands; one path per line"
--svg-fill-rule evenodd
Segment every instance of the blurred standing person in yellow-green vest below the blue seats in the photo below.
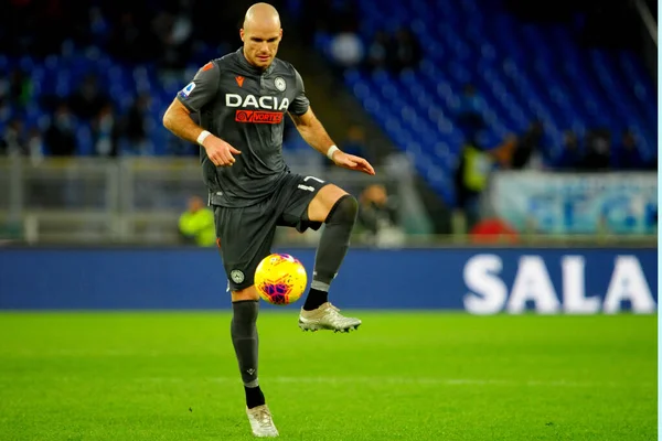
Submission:
M 457 206 L 465 215 L 466 229 L 480 220 L 480 197 L 488 186 L 492 159 L 478 142 L 467 143 L 455 172 Z

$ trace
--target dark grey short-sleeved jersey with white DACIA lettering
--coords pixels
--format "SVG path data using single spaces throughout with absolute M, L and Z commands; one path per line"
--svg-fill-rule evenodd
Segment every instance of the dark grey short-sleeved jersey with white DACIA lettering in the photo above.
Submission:
M 309 101 L 295 67 L 279 58 L 263 71 L 250 65 L 243 49 L 197 71 L 178 94 L 200 115 L 205 130 L 239 150 L 232 166 L 215 166 L 200 148 L 204 182 L 216 205 L 245 207 L 269 196 L 288 172 L 282 159 L 287 112 L 303 115 Z

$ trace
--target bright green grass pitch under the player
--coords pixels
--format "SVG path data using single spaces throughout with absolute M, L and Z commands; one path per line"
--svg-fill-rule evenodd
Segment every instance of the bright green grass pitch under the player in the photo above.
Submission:
M 655 440 L 656 316 L 263 311 L 284 440 Z M 0 440 L 249 440 L 226 312 L 1 313 Z

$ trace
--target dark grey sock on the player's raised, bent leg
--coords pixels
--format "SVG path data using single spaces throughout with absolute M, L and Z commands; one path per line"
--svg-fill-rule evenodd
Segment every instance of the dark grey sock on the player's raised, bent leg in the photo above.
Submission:
M 312 283 L 303 310 L 314 310 L 328 301 L 329 286 L 348 254 L 357 212 L 356 198 L 349 194 L 341 196 L 329 212 L 314 256 Z

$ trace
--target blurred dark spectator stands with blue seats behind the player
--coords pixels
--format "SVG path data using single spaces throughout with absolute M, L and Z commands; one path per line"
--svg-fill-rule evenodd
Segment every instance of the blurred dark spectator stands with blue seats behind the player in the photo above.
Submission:
M 44 168 L 52 157 L 179 157 L 194 165 L 196 146 L 167 132 L 161 117 L 200 66 L 241 45 L 250 3 L 6 1 L 0 157 Z M 460 229 L 474 227 L 493 215 L 480 198 L 499 170 L 656 170 L 653 1 L 270 3 L 281 12 L 281 56 L 301 72 L 333 138 L 387 171 L 384 182 L 350 184 L 365 206 L 366 241 L 385 225 L 399 228 L 385 243 L 402 243 L 404 230 L 423 228 L 405 225 L 416 213 L 430 234 L 459 228 L 453 213 L 466 215 Z M 289 120 L 284 150 L 310 174 L 329 172 Z M 402 173 L 413 190 L 402 187 Z M 145 186 L 157 200 L 170 192 L 177 203 L 164 206 L 182 209 L 190 193 L 204 194 L 184 187 Z M 20 197 L 23 230 L 29 201 L 43 206 Z

